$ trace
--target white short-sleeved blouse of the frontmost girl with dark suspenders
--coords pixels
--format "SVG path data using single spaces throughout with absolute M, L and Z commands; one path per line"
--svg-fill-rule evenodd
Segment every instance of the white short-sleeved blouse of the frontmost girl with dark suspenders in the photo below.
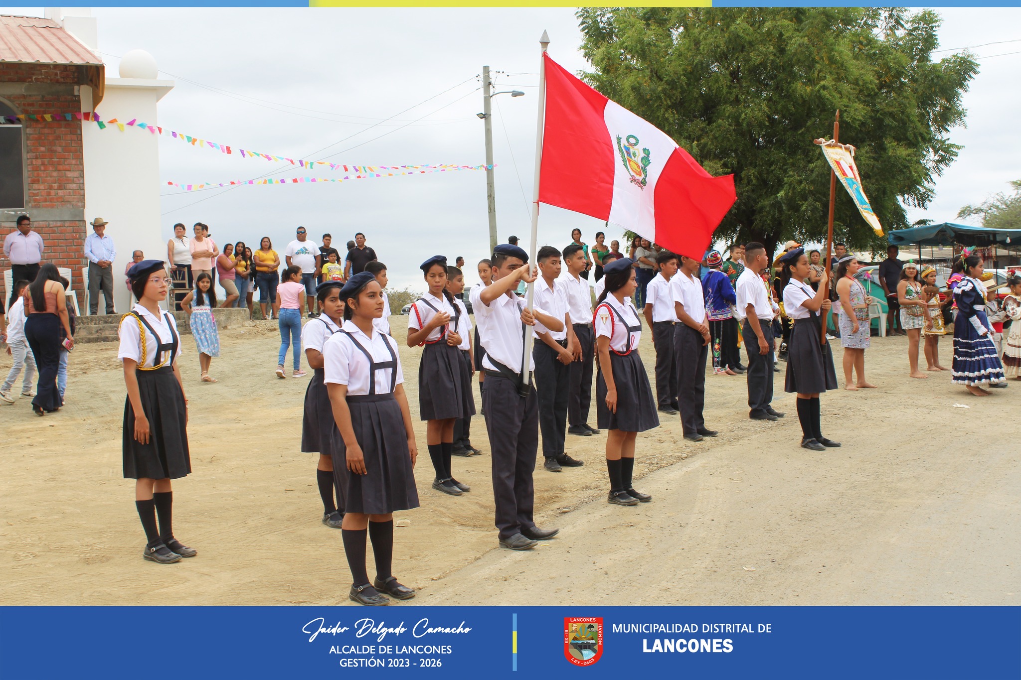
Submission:
M 397 353 L 397 341 L 373 329 L 373 336 L 369 337 L 361 329 L 348 319 L 344 321 L 341 330 L 349 332 L 358 344 L 372 355 L 373 361 L 380 363 L 396 359 L 397 366 L 394 369 L 380 369 L 373 371 L 376 375 L 369 375 L 369 358 L 364 352 L 354 347 L 351 337 L 343 332 L 330 335 L 330 338 L 323 346 L 323 381 L 327 384 L 347 385 L 347 394 L 351 397 L 368 395 L 370 379 L 376 380 L 376 394 L 390 394 L 390 379 L 392 371 L 397 371 L 397 379 L 394 386 L 404 381 L 404 373 L 400 367 L 400 355 Z M 393 349 L 393 357 L 390 356 L 389 346 Z

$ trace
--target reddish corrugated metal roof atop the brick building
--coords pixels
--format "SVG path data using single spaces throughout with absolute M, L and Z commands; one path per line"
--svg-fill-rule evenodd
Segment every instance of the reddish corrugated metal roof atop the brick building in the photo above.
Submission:
M 52 19 L 0 15 L 0 63 L 92 64 L 103 60 Z

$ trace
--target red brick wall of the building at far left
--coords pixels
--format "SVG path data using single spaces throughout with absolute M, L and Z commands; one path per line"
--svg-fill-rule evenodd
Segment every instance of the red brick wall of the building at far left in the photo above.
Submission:
M 83 81 L 81 66 L 53 64 L 0 64 L 0 83 L 52 83 L 77 85 Z M 81 98 L 63 95 L 7 95 L 19 113 L 68 113 L 82 110 Z M 85 208 L 85 167 L 82 160 L 82 123 L 79 120 L 25 121 L 29 175 L 28 205 L 34 208 Z M 2 236 L 14 228 L 9 215 L 4 216 Z M 33 218 L 32 228 L 46 244 L 44 261 L 74 272 L 71 285 L 83 290 L 81 269 L 87 260 L 83 254 L 86 221 L 48 222 Z M 3 266 L 8 266 L 4 262 Z M 6 292 L 5 292 L 6 295 Z

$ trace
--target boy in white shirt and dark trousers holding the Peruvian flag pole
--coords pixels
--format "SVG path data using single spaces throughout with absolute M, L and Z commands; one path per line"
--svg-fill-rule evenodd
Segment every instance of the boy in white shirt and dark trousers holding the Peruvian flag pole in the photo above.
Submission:
M 528 266 L 528 253 L 518 246 L 501 244 L 493 250 L 493 282 L 472 291 L 475 323 L 482 336 L 486 357 L 486 386 L 482 390 L 483 413 L 493 457 L 493 501 L 500 544 L 527 551 L 536 541 L 552 538 L 558 529 L 535 526 L 533 473 L 539 449 L 539 405 L 529 373 L 534 360 L 525 363 L 522 323 L 537 332 L 564 329 L 564 321 L 538 307 L 529 310 L 515 295 L 519 281 L 531 283 L 537 269 Z

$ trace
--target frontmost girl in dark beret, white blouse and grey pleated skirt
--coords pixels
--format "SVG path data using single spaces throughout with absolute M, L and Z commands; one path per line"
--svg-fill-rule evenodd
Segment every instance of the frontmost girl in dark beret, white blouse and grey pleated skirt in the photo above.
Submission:
M 415 589 L 394 577 L 393 513 L 419 507 L 415 462 L 419 451 L 404 396 L 397 342 L 376 330 L 383 289 L 369 272 L 351 276 L 340 291 L 344 325 L 323 347 L 323 380 L 336 429 L 333 469 L 344 498 L 341 537 L 351 570 L 348 597 L 360 605 L 408 599 Z M 373 543 L 376 578 L 366 569 Z

